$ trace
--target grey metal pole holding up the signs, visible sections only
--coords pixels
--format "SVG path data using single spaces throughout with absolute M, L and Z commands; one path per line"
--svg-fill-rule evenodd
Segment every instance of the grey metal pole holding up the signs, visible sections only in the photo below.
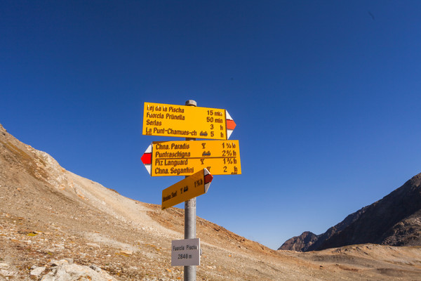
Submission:
M 197 106 L 197 103 L 194 100 L 187 100 L 186 105 Z M 186 141 L 195 140 L 196 138 L 186 138 Z M 192 238 L 196 238 L 196 197 L 185 202 L 185 239 Z M 196 266 L 184 267 L 184 280 L 196 281 Z

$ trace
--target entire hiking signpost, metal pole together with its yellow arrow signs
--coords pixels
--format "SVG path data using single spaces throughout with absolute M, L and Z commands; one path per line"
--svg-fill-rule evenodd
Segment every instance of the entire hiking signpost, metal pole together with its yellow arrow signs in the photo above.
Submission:
M 197 107 L 196 101 L 184 105 L 145 103 L 142 134 L 186 138 L 186 141 L 155 141 L 142 155 L 151 176 L 186 176 L 162 191 L 162 209 L 185 202 L 185 240 L 173 241 L 171 263 L 185 266 L 185 281 L 196 280 L 198 259 L 180 252 L 184 243 L 200 249 L 196 238 L 196 197 L 208 192 L 213 175 L 241 174 L 239 141 L 227 141 L 236 124 L 227 110 Z M 196 141 L 207 138 L 220 141 Z M 187 246 L 189 247 L 189 246 Z M 182 248 L 182 249 L 181 249 Z M 200 251 L 195 251 L 200 252 Z M 173 263 L 173 254 L 186 262 Z

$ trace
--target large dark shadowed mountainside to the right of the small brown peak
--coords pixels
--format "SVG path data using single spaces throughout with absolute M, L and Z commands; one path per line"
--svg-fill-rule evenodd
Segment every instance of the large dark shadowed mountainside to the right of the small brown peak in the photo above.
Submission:
M 368 206 L 347 228 L 332 235 L 319 247 L 309 247 L 309 250 L 364 243 L 421 245 L 420 183 L 421 174 L 417 174 L 382 200 Z

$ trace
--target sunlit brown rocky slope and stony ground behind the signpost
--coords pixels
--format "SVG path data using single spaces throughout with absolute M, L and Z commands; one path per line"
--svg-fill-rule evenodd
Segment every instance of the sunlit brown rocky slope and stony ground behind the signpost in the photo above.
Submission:
M 182 280 L 183 210 L 131 200 L 63 169 L 0 125 L 0 281 Z M 420 280 L 421 248 L 274 251 L 202 218 L 197 280 Z

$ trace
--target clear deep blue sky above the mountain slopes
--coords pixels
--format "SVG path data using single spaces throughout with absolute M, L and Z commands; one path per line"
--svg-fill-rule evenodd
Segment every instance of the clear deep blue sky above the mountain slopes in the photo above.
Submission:
M 188 99 L 241 150 L 198 216 L 274 249 L 323 233 L 421 172 L 421 1 L 0 2 L 0 123 L 65 169 L 161 204 L 182 177 L 140 161 L 175 140 L 143 103 Z

